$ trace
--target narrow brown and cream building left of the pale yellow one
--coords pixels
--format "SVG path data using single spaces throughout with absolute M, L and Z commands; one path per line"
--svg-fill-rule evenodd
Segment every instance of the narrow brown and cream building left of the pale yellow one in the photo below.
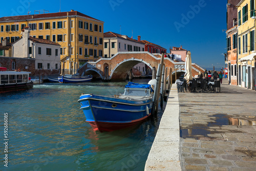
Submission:
M 228 0 L 227 4 L 227 53 L 225 54 L 225 65 L 228 67 L 228 81 L 231 85 L 238 84 L 238 66 L 237 66 L 237 45 L 238 45 L 238 27 L 237 27 L 237 8 L 235 7 L 239 0 Z

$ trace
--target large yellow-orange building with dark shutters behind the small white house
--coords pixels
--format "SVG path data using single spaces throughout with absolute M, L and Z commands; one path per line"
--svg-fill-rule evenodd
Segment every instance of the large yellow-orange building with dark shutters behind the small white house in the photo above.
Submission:
M 32 37 L 58 42 L 62 66 L 69 69 L 70 73 L 71 69 L 76 71 L 83 63 L 102 57 L 103 24 L 98 19 L 74 10 L 1 17 L 0 38 L 1 43 L 3 39 L 14 42 L 20 38 L 22 29 L 29 26 Z

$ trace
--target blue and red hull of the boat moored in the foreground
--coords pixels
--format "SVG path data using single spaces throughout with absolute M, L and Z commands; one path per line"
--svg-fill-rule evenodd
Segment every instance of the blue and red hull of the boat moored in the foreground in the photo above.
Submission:
M 94 131 L 109 132 L 138 124 L 151 115 L 152 98 L 127 100 L 108 96 L 82 95 L 81 104 L 86 121 Z

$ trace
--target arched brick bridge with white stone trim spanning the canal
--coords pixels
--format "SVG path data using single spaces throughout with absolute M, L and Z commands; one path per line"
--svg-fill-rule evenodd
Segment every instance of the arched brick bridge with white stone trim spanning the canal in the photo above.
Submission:
M 92 74 L 94 78 L 100 77 L 101 79 L 107 80 L 125 79 L 129 71 L 138 63 L 143 62 L 151 69 L 155 67 L 157 71 L 160 61 L 161 54 L 152 54 L 149 52 L 118 52 L 111 58 L 100 58 L 94 62 L 84 63 L 77 70 L 77 73 L 80 75 Z M 177 77 L 185 73 L 185 62 L 164 58 L 164 65 L 173 69 L 173 76 L 175 76 L 175 68 Z M 199 71 L 204 72 L 204 69 L 196 63 L 192 63 L 193 77 L 198 75 Z

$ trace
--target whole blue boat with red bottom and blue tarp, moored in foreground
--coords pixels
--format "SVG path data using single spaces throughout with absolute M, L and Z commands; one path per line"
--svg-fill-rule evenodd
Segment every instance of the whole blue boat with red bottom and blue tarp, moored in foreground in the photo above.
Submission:
M 121 95 L 85 94 L 78 102 L 94 131 L 109 132 L 133 126 L 149 117 L 153 89 L 150 84 L 129 82 Z

